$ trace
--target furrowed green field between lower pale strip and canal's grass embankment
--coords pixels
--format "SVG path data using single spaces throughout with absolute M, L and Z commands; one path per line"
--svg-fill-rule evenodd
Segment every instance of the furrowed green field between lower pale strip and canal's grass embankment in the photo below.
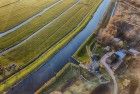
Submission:
M 72 1 L 74 0 L 65 0 L 64 2 L 68 3 Z M 8 62 L 3 62 L 4 65 L 16 62 L 20 66 L 24 66 L 32 62 L 40 54 L 47 51 L 60 39 L 74 30 L 92 8 L 96 9 L 99 3 L 99 0 L 81 0 L 61 15 L 59 19 L 53 21 L 33 37 L 26 40 L 26 42 L 21 43 L 21 45 L 3 54 L 3 56 L 0 57 L 1 61 L 5 61 L 2 60 L 2 58 L 6 58 L 8 59 Z M 45 16 L 42 16 L 42 18 L 44 17 Z M 34 25 L 32 25 L 32 27 L 34 27 Z M 0 43 L 3 44 L 5 42 L 3 41 Z

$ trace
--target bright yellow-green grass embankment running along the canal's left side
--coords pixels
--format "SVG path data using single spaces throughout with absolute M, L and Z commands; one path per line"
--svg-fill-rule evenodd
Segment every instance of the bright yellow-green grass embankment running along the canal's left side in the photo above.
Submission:
M 50 49 L 48 49 L 44 54 L 40 56 L 37 60 L 35 60 L 33 63 L 19 71 L 18 73 L 14 74 L 10 78 L 8 78 L 5 83 L 0 83 L 0 91 L 3 92 L 4 90 L 10 88 L 12 85 L 14 85 L 17 81 L 21 80 L 23 77 L 28 75 L 33 70 L 37 69 L 44 61 L 49 59 L 52 55 L 54 55 L 60 48 L 62 48 L 65 44 L 67 44 L 70 39 L 72 39 L 78 32 L 80 32 L 85 25 L 88 23 L 90 18 L 92 17 L 93 12 L 96 11 L 97 6 L 101 3 L 102 0 L 95 0 L 94 1 L 94 7 L 92 6 L 92 10 L 89 12 L 89 14 L 86 16 L 84 20 L 77 26 L 77 28 L 73 29 L 70 33 L 68 33 L 65 37 L 61 38 L 59 42 L 57 42 L 55 45 L 53 45 Z M 82 4 L 83 5 L 83 4 Z M 82 8 L 83 9 L 83 8 Z M 73 10 L 73 9 L 72 9 Z M 85 12 L 85 11 L 84 11 Z M 63 15 L 64 16 L 64 15 Z M 77 17 L 77 16 L 76 16 Z M 78 17 L 77 17 L 78 18 Z M 59 19 L 60 20 L 60 19 Z M 74 20 L 75 21 L 75 20 Z M 66 26 L 67 27 L 67 26 Z M 60 33 L 61 35 L 61 33 Z M 58 35 L 57 35 L 58 36 Z M 47 38 L 48 39 L 48 38 Z M 46 39 L 45 39 L 46 40 Z M 39 45 L 36 45 L 39 46 Z M 44 46 L 45 47 L 45 46 Z M 38 50 L 38 49 L 37 49 Z M 18 54 L 18 53 L 17 53 Z M 24 56 L 23 56 L 24 57 Z M 9 62 L 10 63 L 10 62 Z M 19 62 L 20 63 L 20 62 Z

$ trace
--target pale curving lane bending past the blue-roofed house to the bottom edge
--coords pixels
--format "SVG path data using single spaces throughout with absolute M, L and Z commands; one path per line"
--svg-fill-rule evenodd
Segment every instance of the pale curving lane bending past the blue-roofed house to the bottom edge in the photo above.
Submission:
M 105 54 L 102 58 L 101 58 L 101 63 L 104 65 L 104 67 L 106 68 L 107 72 L 109 73 L 110 77 L 113 80 L 114 83 L 114 90 L 113 90 L 113 94 L 118 94 L 118 84 L 114 75 L 114 72 L 112 71 L 112 69 L 108 66 L 108 64 L 106 63 L 106 59 L 108 57 L 110 57 L 114 52 L 109 52 L 107 54 Z

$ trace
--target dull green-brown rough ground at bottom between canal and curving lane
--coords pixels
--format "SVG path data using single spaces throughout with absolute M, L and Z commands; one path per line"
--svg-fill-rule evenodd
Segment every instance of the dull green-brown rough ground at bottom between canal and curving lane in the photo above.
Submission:
M 104 74 L 103 77 L 109 80 Z M 45 83 L 35 94 L 93 94 L 92 92 L 100 85 L 97 76 L 79 65 L 68 63 L 55 77 Z M 78 91 L 77 91 L 78 90 Z

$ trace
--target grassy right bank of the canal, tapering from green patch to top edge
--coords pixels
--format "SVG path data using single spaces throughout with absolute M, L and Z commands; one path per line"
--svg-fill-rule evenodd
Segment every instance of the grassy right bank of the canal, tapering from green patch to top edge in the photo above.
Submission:
M 92 50 L 94 47 L 96 47 L 96 54 L 102 55 L 103 53 L 103 47 L 97 43 L 95 37 L 97 36 L 96 34 L 101 28 L 105 28 L 108 21 L 110 20 L 110 16 L 112 14 L 112 10 L 114 8 L 116 0 L 112 0 L 111 3 L 109 4 L 104 17 L 102 19 L 101 24 L 97 27 L 97 29 L 93 32 L 91 36 L 79 47 L 79 49 L 75 52 L 73 57 L 78 60 L 79 62 L 86 64 L 89 63 L 89 56 L 86 51 L 86 46 L 90 46 L 90 49 Z M 94 53 L 94 54 L 95 54 Z

